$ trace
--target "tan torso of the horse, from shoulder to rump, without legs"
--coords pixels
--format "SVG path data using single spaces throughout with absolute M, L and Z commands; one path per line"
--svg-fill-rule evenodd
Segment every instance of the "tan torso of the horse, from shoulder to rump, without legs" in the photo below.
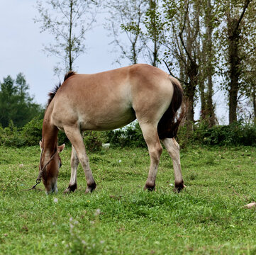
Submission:
M 79 125 L 82 130 L 111 130 L 138 115 L 165 111 L 172 98 L 169 76 L 147 64 L 98 74 L 74 74 L 52 100 L 52 122 L 58 128 Z

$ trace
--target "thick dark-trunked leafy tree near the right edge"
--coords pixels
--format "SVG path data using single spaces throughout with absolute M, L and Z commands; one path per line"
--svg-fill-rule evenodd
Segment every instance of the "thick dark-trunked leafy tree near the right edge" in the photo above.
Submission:
M 246 14 L 252 2 L 255 0 L 226 0 L 223 1 L 223 10 L 226 14 L 225 20 L 225 42 L 224 52 L 227 52 L 228 62 L 228 104 L 229 104 L 229 123 L 237 121 L 238 94 L 243 86 L 243 57 L 245 50 L 243 47 L 244 36 L 247 33 Z M 255 13 L 256 14 L 256 13 Z M 255 15 L 254 14 L 254 15 Z

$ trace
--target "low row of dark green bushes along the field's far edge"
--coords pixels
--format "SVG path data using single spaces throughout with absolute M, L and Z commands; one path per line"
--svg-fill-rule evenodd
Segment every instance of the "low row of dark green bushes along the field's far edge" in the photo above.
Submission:
M 0 125 L 0 145 L 11 147 L 38 145 L 42 139 L 43 120 L 34 118 L 23 128 L 18 129 L 11 121 L 7 128 Z M 58 135 L 59 144 L 69 145 L 65 132 Z M 208 128 L 204 123 L 194 125 L 193 132 L 188 135 L 186 125 L 179 128 L 177 141 L 181 147 L 187 145 L 256 145 L 256 126 L 245 123 L 233 123 L 232 125 L 216 125 Z M 96 132 L 84 132 L 84 143 L 87 151 L 96 152 L 101 150 L 102 143 L 109 142 L 111 147 L 146 147 L 143 134 L 138 122 L 134 122 L 118 130 Z

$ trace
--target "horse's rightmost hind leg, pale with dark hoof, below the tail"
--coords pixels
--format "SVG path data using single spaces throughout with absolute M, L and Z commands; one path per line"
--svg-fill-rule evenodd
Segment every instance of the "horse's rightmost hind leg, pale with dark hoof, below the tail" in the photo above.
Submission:
M 179 159 L 179 144 L 174 138 L 165 138 L 161 140 L 165 145 L 169 156 L 172 158 L 173 169 L 174 169 L 174 181 L 176 191 L 182 191 L 184 188 L 184 182 L 182 179 L 182 168 L 180 166 Z

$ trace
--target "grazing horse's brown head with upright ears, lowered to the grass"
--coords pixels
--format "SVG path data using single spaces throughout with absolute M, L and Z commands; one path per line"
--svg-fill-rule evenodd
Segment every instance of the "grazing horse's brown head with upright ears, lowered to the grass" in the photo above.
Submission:
M 41 155 L 39 162 L 39 173 L 42 174 L 43 184 L 45 185 L 45 193 L 57 193 L 57 176 L 60 166 L 60 152 L 65 148 L 65 144 L 57 146 L 54 152 L 50 152 L 43 147 L 43 142 L 39 142 Z

